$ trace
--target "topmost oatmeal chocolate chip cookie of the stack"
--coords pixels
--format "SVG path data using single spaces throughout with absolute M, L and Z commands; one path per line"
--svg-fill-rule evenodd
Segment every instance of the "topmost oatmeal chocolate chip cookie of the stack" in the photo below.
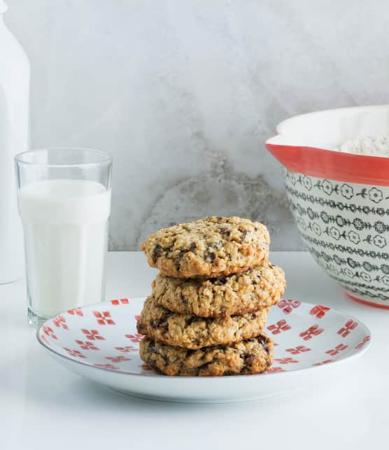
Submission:
M 239 217 L 208 217 L 163 228 L 142 244 L 151 267 L 178 278 L 212 278 L 267 262 L 269 232 Z

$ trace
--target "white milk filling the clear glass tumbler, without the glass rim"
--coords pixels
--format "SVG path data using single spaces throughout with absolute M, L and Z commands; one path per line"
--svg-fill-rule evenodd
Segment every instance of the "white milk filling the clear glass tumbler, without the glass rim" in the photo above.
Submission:
M 29 307 L 38 316 L 100 302 L 111 190 L 96 181 L 48 180 L 18 192 Z

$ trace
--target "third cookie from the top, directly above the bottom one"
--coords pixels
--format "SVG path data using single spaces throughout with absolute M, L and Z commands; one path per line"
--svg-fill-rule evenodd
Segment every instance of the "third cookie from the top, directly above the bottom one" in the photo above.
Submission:
M 138 332 L 157 342 L 187 349 L 232 344 L 260 334 L 266 325 L 267 309 L 243 316 L 204 318 L 179 314 L 148 297 L 137 323 Z

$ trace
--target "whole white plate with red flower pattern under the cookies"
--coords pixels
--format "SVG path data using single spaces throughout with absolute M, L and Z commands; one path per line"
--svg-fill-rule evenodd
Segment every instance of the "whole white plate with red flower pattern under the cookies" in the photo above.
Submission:
M 97 383 L 141 398 L 171 402 L 239 402 L 267 398 L 320 383 L 339 373 L 337 363 L 360 356 L 370 332 L 357 319 L 328 307 L 281 300 L 269 310 L 267 334 L 274 364 L 264 374 L 165 377 L 139 358 L 136 319 L 143 298 L 72 309 L 46 321 L 38 341 L 59 363 Z

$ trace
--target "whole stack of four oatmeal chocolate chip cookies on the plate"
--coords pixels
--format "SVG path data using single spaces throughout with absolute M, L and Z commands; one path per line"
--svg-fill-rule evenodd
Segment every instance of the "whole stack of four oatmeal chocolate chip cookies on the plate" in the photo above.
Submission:
M 167 375 L 257 374 L 273 343 L 262 334 L 285 289 L 271 265 L 269 232 L 238 217 L 174 225 L 143 243 L 160 269 L 138 322 L 141 358 Z

